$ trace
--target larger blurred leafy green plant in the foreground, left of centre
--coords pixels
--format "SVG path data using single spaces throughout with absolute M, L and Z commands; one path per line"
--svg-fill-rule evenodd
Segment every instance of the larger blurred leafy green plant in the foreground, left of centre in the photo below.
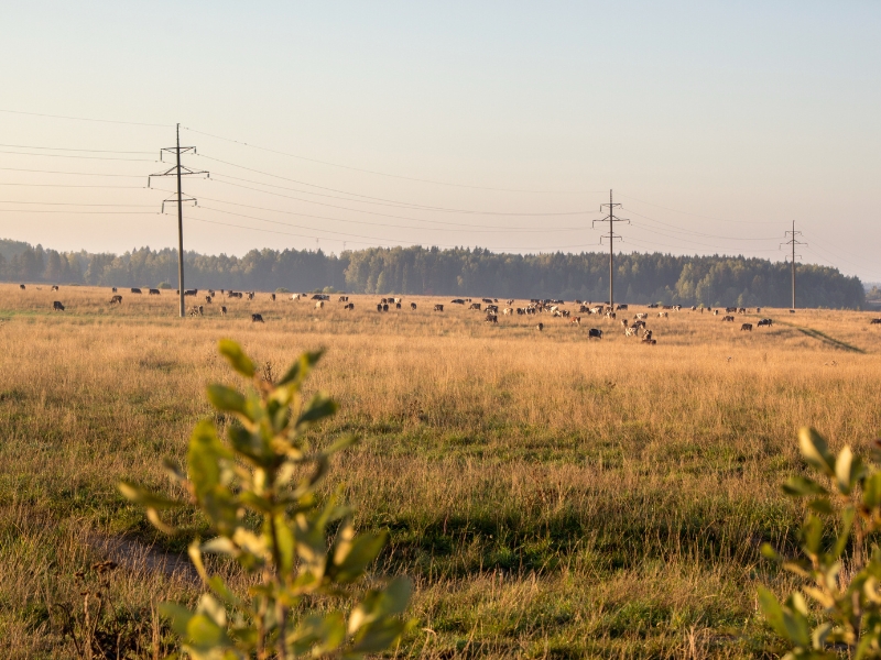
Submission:
M 195 610 L 166 603 L 161 612 L 184 652 L 196 660 L 359 658 L 389 648 L 412 625 L 401 616 L 410 582 L 396 578 L 382 588 L 358 590 L 387 537 L 356 535 L 338 493 L 319 503 L 317 487 L 331 457 L 354 442 L 348 437 L 315 450 L 305 438 L 337 410 L 323 393 L 302 400 L 303 382 L 320 353 L 304 353 L 272 383 L 237 343 L 224 340 L 219 348 L 251 387 L 242 394 L 210 385 L 210 403 L 235 418 L 226 441 L 214 424 L 202 421 L 189 440 L 186 472 L 165 463 L 217 534 L 189 546 L 209 592 Z M 120 490 L 146 507 L 153 525 L 175 531 L 160 512 L 183 503 L 131 483 Z M 331 525 L 337 531 L 329 540 Z M 208 552 L 231 557 L 251 576 L 247 594 L 235 593 L 220 575 L 208 575 L 203 561 Z M 356 596 L 361 597 L 352 604 Z

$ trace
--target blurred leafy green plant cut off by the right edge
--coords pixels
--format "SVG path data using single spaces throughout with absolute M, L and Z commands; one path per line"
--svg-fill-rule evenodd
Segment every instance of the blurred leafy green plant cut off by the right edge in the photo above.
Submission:
M 800 578 L 804 586 L 784 603 L 764 587 L 759 601 L 771 627 L 791 647 L 785 658 L 881 658 L 881 549 L 867 541 L 881 528 L 881 471 L 845 447 L 834 455 L 814 429 L 798 435 L 802 455 L 818 479 L 794 476 L 783 486 L 807 501 L 801 528 L 804 557 L 784 560 L 762 552 Z M 881 459 L 875 441 L 872 459 Z

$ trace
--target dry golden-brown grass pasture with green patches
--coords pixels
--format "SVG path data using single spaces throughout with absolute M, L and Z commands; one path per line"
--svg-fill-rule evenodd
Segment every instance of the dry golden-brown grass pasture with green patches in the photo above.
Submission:
M 649 310 L 649 346 L 588 315 L 490 326 L 448 297 L 379 314 L 378 296 L 345 311 L 336 296 L 316 310 L 257 294 L 178 319 L 174 292 L 120 294 L 110 307 L 107 288 L 0 285 L 3 657 L 73 657 L 59 613 L 81 604 L 76 573 L 120 548 L 140 559 L 105 597 L 133 653 L 152 657 L 156 602 L 197 595 L 142 551 L 189 539 L 154 531 L 116 484 L 167 488 L 160 460 L 183 461 L 210 415 L 205 385 L 235 382 L 220 338 L 268 375 L 327 348 L 307 384 L 341 405 L 324 431 L 362 439 L 327 487 L 345 484 L 359 527 L 390 530 L 377 571 L 416 587 L 420 623 L 396 657 L 772 652 L 755 586 L 792 584 L 759 547 L 794 544 L 802 513 L 780 485 L 802 470 L 796 431 L 863 454 L 881 433 L 881 327 L 867 312 Z M 760 317 L 774 326 L 740 331 Z

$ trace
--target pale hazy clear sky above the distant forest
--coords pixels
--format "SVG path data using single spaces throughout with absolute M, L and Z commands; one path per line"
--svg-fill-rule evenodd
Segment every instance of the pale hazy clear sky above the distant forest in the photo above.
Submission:
M 0 238 L 176 246 L 175 182 L 146 185 L 180 123 L 210 173 L 187 250 L 608 251 L 611 190 L 616 252 L 782 261 L 794 221 L 802 261 L 881 282 L 879 2 L 3 14 Z

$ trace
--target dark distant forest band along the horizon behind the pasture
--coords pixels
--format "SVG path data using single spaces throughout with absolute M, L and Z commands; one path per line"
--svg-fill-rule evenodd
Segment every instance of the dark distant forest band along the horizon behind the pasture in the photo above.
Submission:
M 499 254 L 482 249 L 370 248 L 340 255 L 252 250 L 241 257 L 186 253 L 186 286 L 244 290 L 340 290 L 497 298 L 606 300 L 608 254 Z M 742 256 L 616 255 L 621 302 L 788 307 L 790 266 Z M 804 307 L 863 308 L 857 277 L 798 264 Z M 124 254 L 57 252 L 0 240 L 0 279 L 98 286 L 177 288 L 177 251 L 143 248 Z

